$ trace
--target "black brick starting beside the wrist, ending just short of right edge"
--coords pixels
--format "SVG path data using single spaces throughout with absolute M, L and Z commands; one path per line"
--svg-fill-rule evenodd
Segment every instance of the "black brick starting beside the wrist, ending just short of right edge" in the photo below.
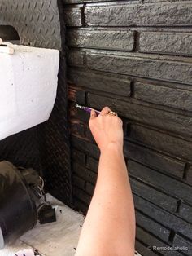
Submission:
M 163 170 L 179 178 L 183 177 L 185 162 L 166 157 L 148 148 L 143 148 L 135 143 L 124 142 L 124 156 L 139 161 L 146 166 Z

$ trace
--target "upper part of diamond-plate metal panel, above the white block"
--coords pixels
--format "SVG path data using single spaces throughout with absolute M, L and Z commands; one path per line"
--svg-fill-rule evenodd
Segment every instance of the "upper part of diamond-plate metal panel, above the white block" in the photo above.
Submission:
M 56 0 L 1 0 L 0 13 L 0 24 L 13 26 L 21 44 L 61 49 Z

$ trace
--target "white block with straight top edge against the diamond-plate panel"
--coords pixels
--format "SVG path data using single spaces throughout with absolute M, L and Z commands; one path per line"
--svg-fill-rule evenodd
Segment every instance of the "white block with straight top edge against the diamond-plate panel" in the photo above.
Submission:
M 0 53 L 0 139 L 46 121 L 55 103 L 59 51 L 12 45 Z

